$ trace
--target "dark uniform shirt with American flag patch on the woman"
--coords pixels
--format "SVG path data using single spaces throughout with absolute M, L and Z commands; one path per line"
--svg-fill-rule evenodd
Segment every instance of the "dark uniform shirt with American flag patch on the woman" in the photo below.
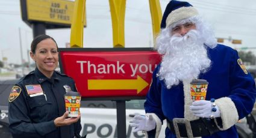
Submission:
M 72 78 L 54 71 L 48 79 L 37 68 L 13 86 L 9 97 L 9 122 L 13 137 L 80 137 L 80 120 L 55 127 L 54 119 L 65 109 L 64 85 L 76 91 Z

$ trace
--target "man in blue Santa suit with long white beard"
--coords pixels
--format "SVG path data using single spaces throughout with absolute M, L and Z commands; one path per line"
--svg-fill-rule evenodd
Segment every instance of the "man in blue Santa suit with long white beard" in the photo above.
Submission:
M 251 113 L 255 82 L 237 51 L 217 44 L 213 30 L 188 2 L 170 1 L 163 14 L 157 50 L 163 55 L 146 95 L 146 115 L 134 131 L 158 137 L 238 137 L 236 124 Z M 194 101 L 192 81 L 208 82 L 204 100 Z

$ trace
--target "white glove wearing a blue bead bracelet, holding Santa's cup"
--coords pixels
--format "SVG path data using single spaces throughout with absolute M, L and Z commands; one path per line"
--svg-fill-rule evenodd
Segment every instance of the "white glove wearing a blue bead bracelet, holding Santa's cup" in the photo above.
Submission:
M 193 101 L 192 106 L 190 106 L 190 110 L 194 113 L 194 115 L 201 117 L 201 118 L 210 118 L 212 115 L 213 118 L 220 117 L 220 110 L 216 105 L 216 112 L 213 112 L 213 103 L 211 101 L 206 100 L 199 100 Z

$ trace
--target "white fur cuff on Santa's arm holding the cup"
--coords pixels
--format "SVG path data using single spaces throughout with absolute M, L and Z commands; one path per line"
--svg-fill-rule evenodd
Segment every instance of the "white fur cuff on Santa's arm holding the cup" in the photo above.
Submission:
M 220 110 L 220 117 L 222 119 L 222 128 L 219 127 L 220 130 L 227 130 L 232 127 L 239 119 L 239 115 L 237 113 L 237 109 L 231 98 L 223 97 L 219 98 L 215 101 L 216 105 Z M 217 122 L 215 121 L 217 124 Z

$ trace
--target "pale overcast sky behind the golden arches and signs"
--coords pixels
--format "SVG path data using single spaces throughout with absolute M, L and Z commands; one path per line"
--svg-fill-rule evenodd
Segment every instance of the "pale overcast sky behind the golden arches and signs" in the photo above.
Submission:
M 162 13 L 169 0 L 160 0 Z M 256 1 L 248 0 L 189 0 L 219 38 L 242 40 L 233 48 L 256 47 Z M 86 0 L 87 28 L 84 28 L 84 47 L 113 47 L 110 6 L 108 0 Z M 32 29 L 20 16 L 19 0 L 0 0 L 0 60 L 20 64 L 20 40 L 23 59 L 28 61 L 28 50 L 33 39 Z M 59 47 L 70 41 L 70 29 L 51 29 L 46 34 L 55 38 Z M 126 0 L 125 47 L 152 47 L 152 25 L 149 0 Z M 251 49 L 254 50 L 255 49 Z

